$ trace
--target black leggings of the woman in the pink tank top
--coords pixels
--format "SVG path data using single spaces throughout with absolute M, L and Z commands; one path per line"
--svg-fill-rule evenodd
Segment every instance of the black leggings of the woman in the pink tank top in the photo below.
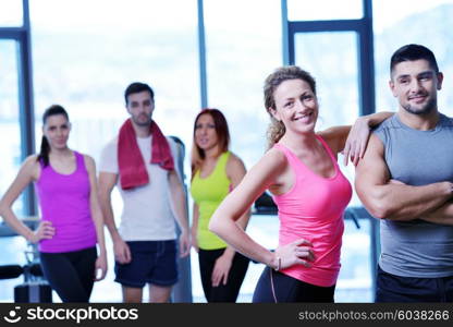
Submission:
M 272 291 L 273 286 L 273 291 Z M 318 287 L 266 267 L 254 292 L 254 303 L 327 302 L 333 303 L 335 284 Z

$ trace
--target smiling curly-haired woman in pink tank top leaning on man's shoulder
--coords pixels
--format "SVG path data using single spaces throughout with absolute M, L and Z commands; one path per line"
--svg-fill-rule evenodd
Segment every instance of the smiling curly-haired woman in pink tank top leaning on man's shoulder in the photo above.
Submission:
M 298 66 L 283 66 L 268 76 L 265 105 L 271 117 L 270 149 L 219 206 L 209 228 L 236 251 L 266 264 L 254 302 L 333 302 L 343 213 L 352 196 L 336 155 L 343 150 L 346 164 L 351 156 L 356 165 L 365 152 L 369 126 L 391 113 L 360 118 L 353 128 L 315 133 L 316 83 Z M 279 209 L 274 252 L 235 223 L 267 189 Z

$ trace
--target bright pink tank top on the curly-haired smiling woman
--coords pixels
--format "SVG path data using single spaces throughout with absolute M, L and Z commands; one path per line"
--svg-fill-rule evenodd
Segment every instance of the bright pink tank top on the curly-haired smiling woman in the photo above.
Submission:
M 311 267 L 294 265 L 282 272 L 315 286 L 331 287 L 340 271 L 343 213 L 351 201 L 352 187 L 329 146 L 320 136 L 317 138 L 333 162 L 334 175 L 323 178 L 313 172 L 287 147 L 276 144 L 286 156 L 295 182 L 286 193 L 274 195 L 273 201 L 279 208 L 279 245 L 306 239 L 311 242 L 316 258 Z

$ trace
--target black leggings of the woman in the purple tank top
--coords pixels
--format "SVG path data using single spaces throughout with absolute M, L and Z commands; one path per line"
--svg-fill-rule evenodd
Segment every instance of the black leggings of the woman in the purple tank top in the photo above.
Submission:
M 63 302 L 88 302 L 95 278 L 96 246 L 39 254 L 44 276 Z

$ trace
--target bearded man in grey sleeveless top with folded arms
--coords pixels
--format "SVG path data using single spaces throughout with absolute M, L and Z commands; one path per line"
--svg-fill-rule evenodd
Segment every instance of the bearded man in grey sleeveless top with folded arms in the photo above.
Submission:
M 377 302 L 453 302 L 453 120 L 438 111 L 443 75 L 426 47 L 390 63 L 397 113 L 370 137 L 355 186 L 380 219 Z

